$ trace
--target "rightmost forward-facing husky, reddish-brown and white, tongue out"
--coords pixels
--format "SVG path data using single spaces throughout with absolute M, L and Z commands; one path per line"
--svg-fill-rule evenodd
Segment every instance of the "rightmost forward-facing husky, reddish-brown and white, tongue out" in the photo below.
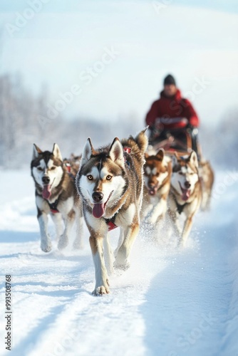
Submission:
M 179 237 L 179 244 L 184 246 L 192 228 L 193 216 L 200 208 L 202 200 L 197 155 L 195 151 L 180 157 L 175 153 L 172 165 L 168 215 L 172 219 L 175 234 Z M 185 224 L 181 232 L 178 220 L 182 213 L 185 214 Z

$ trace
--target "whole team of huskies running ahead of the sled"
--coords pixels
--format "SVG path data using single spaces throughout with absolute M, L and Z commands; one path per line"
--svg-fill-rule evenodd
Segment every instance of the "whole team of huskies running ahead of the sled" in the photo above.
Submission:
M 199 164 L 194 151 L 172 157 L 161 149 L 150 152 L 145 131 L 125 140 L 115 137 L 111 145 L 99 149 L 88 138 L 82 156 L 71 159 L 62 158 L 57 144 L 52 152 L 33 145 L 31 176 L 41 249 L 51 251 L 48 215 L 56 225 L 59 249 L 67 246 L 74 223 L 73 247 L 83 246 L 84 219 L 95 266 L 95 295 L 109 293 L 108 274 L 114 268 L 130 266 L 140 221 L 156 232 L 167 215 L 178 244 L 184 246 L 201 203 L 203 209 L 209 205 L 213 179 L 209 163 Z M 180 214 L 185 216 L 182 229 Z M 116 227 L 120 237 L 113 256 L 108 231 Z

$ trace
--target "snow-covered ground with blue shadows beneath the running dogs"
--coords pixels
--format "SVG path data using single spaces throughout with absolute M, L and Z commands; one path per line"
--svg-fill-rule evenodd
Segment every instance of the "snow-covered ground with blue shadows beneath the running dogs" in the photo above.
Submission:
M 184 251 L 140 232 L 130 270 L 93 297 L 93 261 L 82 251 L 40 249 L 29 172 L 0 172 L 0 355 L 5 275 L 11 274 L 9 355 L 238 355 L 238 175 L 216 175 L 212 210 L 199 213 Z M 53 236 L 53 226 L 51 226 Z M 112 231 L 115 245 L 118 232 Z M 54 238 L 53 238 L 54 239 Z

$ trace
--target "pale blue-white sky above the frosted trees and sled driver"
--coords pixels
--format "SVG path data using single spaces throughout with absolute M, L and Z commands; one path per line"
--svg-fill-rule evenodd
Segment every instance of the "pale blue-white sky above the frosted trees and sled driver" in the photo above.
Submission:
M 34 92 L 47 83 L 53 106 L 81 88 L 65 117 L 143 122 L 167 73 L 202 122 L 237 107 L 238 1 L 1 0 L 0 10 L 1 73 L 21 73 Z

